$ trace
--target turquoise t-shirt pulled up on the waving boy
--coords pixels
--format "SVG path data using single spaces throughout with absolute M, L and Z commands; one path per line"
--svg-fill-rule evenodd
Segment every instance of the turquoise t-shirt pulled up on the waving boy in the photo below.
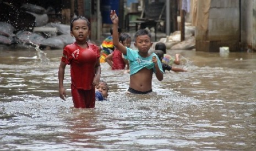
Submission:
M 148 57 L 141 57 L 139 55 L 138 50 L 132 50 L 130 48 L 126 48 L 126 50 L 127 50 L 127 53 L 126 55 L 124 55 L 124 57 L 125 59 L 129 60 L 130 75 L 137 73 L 142 68 L 153 69 L 153 72 L 154 73 L 156 72 L 155 63 L 152 62 L 152 57 L 153 56 L 157 57 L 155 53 L 152 53 Z M 157 59 L 157 65 L 159 66 L 160 71 L 164 73 L 164 71 L 162 70 L 161 61 L 159 59 Z

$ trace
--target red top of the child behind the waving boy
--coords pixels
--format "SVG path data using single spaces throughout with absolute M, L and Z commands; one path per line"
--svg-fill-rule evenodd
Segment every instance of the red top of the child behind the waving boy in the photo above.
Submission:
M 126 63 L 123 61 L 122 53 L 117 49 L 113 51 L 112 62 L 113 62 L 112 64 L 113 70 L 126 68 Z

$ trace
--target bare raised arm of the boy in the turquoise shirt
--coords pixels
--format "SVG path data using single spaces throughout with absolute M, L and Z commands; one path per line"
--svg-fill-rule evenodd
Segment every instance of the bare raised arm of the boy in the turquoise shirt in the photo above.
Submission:
M 126 55 L 126 47 L 123 46 L 122 43 L 119 42 L 119 37 L 118 37 L 118 16 L 116 14 L 115 10 L 110 11 L 110 19 L 113 22 L 113 44 L 115 47 L 120 50 L 124 55 Z

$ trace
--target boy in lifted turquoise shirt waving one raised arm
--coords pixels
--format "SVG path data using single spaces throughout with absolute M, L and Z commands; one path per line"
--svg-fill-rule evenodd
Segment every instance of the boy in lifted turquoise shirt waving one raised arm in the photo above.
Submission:
M 132 94 L 148 94 L 152 92 L 152 75 L 161 81 L 164 78 L 161 61 L 155 53 L 148 51 L 152 46 L 151 34 L 147 30 L 139 30 L 135 33 L 134 46 L 137 50 L 124 47 L 118 40 L 118 17 L 116 12 L 111 10 L 110 18 L 113 22 L 113 44 L 126 55 L 130 63 L 130 84 L 128 92 Z

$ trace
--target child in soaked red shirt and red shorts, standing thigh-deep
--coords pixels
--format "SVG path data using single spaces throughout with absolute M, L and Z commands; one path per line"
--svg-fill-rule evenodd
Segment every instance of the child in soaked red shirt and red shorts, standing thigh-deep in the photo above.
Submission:
M 63 79 L 65 68 L 70 65 L 71 94 L 75 108 L 95 107 L 95 85 L 100 82 L 100 52 L 97 45 L 87 42 L 90 32 L 90 22 L 83 16 L 71 21 L 70 34 L 75 37 L 75 43 L 63 49 L 59 65 L 59 97 L 65 100 Z

